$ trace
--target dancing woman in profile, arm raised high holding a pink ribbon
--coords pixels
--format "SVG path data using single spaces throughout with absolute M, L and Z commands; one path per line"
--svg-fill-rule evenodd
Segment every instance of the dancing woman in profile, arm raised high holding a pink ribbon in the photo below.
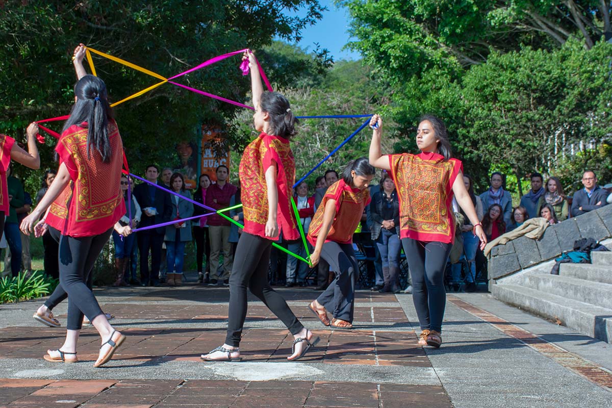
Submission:
M 295 161 L 289 138 L 297 122 L 289 101 L 277 92 L 264 92 L 255 56 L 247 51 L 251 68 L 255 130 L 261 132 L 242 154 L 240 181 L 244 230 L 238 240 L 234 267 L 230 275 L 230 310 L 225 344 L 201 358 L 204 361 L 240 360 L 240 340 L 247 316 L 247 287 L 285 324 L 294 337 L 291 355 L 295 361 L 318 343 L 313 333 L 300 322 L 281 295 L 268 283 L 267 271 L 272 242 L 280 230 L 285 239 L 299 238 L 291 214 L 291 187 Z

